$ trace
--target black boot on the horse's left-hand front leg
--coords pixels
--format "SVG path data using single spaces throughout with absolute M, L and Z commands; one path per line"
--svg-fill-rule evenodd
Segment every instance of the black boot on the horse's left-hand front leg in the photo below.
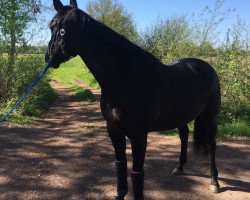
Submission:
M 127 160 L 115 161 L 117 170 L 117 197 L 116 200 L 123 200 L 128 193 Z

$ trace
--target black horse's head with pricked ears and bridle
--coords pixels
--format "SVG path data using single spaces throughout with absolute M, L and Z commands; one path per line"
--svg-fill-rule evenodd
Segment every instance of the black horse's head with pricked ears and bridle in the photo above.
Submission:
M 57 13 L 49 23 L 51 40 L 45 60 L 51 60 L 52 67 L 58 68 L 62 62 L 77 55 L 79 34 L 87 14 L 77 8 L 76 0 L 70 0 L 68 6 L 64 6 L 60 0 L 53 0 L 53 4 Z

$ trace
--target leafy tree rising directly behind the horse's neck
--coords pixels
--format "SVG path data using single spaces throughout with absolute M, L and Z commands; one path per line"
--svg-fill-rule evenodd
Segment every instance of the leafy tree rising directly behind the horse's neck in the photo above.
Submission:
M 133 17 L 117 0 L 96 0 L 89 2 L 87 11 L 96 20 L 104 23 L 131 41 L 136 41 L 138 33 Z

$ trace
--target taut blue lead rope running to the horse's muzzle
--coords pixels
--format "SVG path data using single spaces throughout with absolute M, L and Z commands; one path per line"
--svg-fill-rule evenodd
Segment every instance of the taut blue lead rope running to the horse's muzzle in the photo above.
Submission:
M 1 119 L 0 125 L 5 121 L 5 119 L 12 113 L 12 111 L 24 100 L 24 98 L 30 93 L 30 91 L 35 87 L 35 85 L 41 80 L 41 78 L 45 75 L 47 70 L 51 67 L 51 61 L 47 63 L 44 70 L 37 76 L 37 78 L 34 80 L 34 82 L 30 85 L 28 90 L 23 94 L 23 96 L 17 100 L 15 105 L 9 110 L 9 112 Z

